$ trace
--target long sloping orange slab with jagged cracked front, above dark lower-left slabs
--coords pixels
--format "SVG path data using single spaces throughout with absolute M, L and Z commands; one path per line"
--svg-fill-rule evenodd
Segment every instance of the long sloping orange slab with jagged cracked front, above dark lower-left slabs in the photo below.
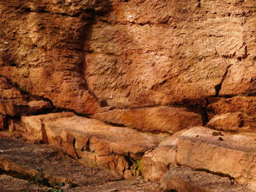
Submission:
M 140 158 L 159 143 L 158 136 L 132 128 L 110 126 L 72 112 L 23 116 L 12 120 L 10 129 L 36 137 L 38 142 L 62 147 L 69 155 L 89 164 L 116 169 L 130 177 L 139 169 Z

